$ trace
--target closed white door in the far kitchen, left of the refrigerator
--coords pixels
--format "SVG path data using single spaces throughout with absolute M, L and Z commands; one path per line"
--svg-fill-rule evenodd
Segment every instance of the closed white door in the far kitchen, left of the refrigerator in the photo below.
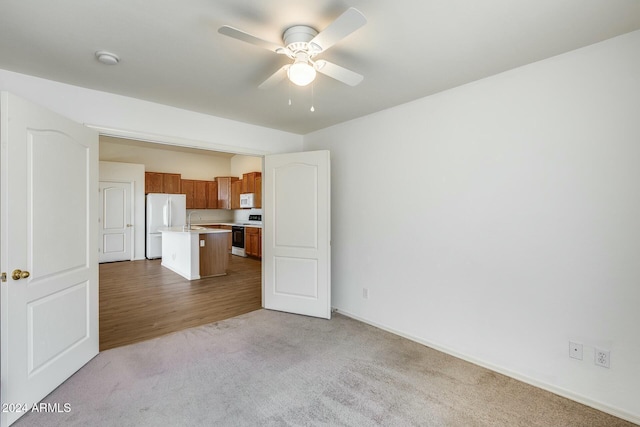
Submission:
M 99 184 L 99 262 L 130 261 L 132 253 L 131 183 Z

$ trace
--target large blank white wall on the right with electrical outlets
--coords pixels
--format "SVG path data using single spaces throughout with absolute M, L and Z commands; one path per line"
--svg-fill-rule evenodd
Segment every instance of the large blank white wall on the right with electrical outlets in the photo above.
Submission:
M 333 306 L 640 422 L 638 52 L 634 32 L 306 135 L 332 152 Z

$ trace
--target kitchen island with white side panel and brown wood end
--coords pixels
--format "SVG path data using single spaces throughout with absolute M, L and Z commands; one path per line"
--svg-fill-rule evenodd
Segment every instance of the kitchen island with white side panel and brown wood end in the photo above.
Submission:
M 165 227 L 162 266 L 188 280 L 227 274 L 230 230 L 206 227 Z

